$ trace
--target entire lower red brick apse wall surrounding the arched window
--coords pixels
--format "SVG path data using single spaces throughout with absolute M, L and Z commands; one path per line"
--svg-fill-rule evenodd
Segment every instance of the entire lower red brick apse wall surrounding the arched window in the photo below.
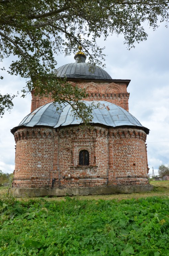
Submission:
M 146 134 L 132 128 L 79 126 L 22 128 L 15 132 L 14 186 L 80 187 L 147 184 Z M 80 150 L 89 166 L 79 166 Z

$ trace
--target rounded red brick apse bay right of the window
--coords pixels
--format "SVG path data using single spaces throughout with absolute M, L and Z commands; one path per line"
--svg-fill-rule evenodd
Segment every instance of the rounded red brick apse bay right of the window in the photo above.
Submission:
M 116 183 L 125 185 L 148 183 L 146 133 L 131 128 L 110 130 Z M 112 181 L 114 182 L 115 180 Z

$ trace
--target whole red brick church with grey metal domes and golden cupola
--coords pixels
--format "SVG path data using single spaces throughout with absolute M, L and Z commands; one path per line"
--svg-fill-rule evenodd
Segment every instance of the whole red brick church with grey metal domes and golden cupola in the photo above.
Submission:
M 31 113 L 11 132 L 16 142 L 12 193 L 64 196 L 149 191 L 146 136 L 149 129 L 128 112 L 130 80 L 112 79 L 102 68 L 89 70 L 79 47 L 75 62 L 56 70 L 85 88 L 93 104 L 91 127 L 65 103 L 32 92 Z

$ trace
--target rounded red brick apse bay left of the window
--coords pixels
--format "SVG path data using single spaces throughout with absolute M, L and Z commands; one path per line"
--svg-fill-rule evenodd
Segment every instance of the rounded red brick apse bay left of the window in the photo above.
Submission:
M 17 186 L 48 186 L 53 170 L 53 129 L 23 128 L 16 141 L 15 177 Z

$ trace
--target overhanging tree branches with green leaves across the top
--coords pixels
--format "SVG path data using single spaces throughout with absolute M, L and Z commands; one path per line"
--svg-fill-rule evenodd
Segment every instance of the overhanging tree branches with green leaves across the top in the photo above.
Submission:
M 27 78 L 23 97 L 35 88 L 46 94 L 51 85 L 54 101 L 64 102 L 65 95 L 68 101 L 72 96 L 81 99 L 84 90 L 69 85 L 67 95 L 54 76 L 57 55 L 75 53 L 81 45 L 91 65 L 101 65 L 104 55 L 97 38 L 124 34 L 125 43 L 133 47 L 147 38 L 144 22 L 156 29 L 160 19 L 167 26 L 168 10 L 166 0 L 0 0 L 0 58 L 12 56 L 8 72 Z M 12 99 L 0 94 L 1 115 L 12 108 Z M 75 105 L 84 107 L 79 101 Z

